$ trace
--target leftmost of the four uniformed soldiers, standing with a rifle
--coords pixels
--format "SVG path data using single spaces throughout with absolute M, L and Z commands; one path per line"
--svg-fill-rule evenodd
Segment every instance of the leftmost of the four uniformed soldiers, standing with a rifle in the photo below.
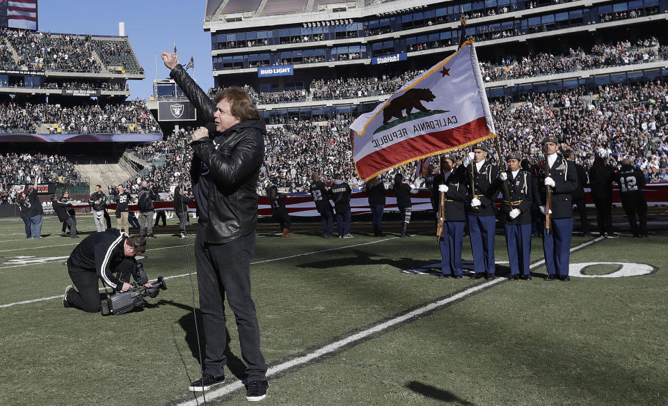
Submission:
M 439 278 L 453 276 L 461 279 L 463 267 L 461 263 L 461 246 L 464 240 L 464 224 L 466 224 L 466 210 L 468 202 L 466 196 L 466 173 L 456 166 L 456 158 L 446 155 L 441 165 L 443 171 L 434 178 L 434 187 L 444 201 L 443 240 L 439 241 L 440 256 L 442 258 Z M 436 210 L 438 216 L 438 208 Z

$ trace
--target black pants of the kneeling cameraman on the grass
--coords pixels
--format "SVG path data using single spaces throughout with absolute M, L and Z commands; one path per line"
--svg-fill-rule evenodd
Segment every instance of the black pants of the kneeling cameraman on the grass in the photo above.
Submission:
M 121 263 L 121 266 L 122 265 L 123 263 Z M 73 267 L 68 261 L 67 272 L 70 274 L 70 279 L 72 279 L 74 287 L 77 288 L 77 290 L 70 292 L 70 294 L 67 295 L 67 303 L 74 308 L 88 311 L 89 313 L 97 313 L 102 310 L 100 283 L 98 283 L 99 278 L 97 277 L 95 270 L 82 270 L 81 268 Z M 122 280 L 126 282 L 129 281 L 131 274 L 132 266 L 123 267 L 121 270 Z

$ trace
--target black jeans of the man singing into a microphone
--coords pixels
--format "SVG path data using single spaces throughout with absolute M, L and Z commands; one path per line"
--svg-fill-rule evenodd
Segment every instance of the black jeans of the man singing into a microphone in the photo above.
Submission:
M 227 359 L 225 336 L 225 295 L 239 331 L 241 357 L 246 362 L 249 381 L 264 380 L 267 364 L 260 352 L 260 325 L 255 303 L 250 297 L 250 257 L 255 251 L 255 233 L 225 244 L 204 242 L 203 225 L 197 228 L 195 257 L 200 310 L 206 338 L 203 368 L 213 376 L 223 375 Z

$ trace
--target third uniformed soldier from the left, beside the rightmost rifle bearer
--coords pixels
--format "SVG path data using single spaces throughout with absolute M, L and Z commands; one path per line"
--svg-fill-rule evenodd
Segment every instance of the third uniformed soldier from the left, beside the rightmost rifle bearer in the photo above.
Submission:
M 506 157 L 508 169 L 499 174 L 502 182 L 503 199 L 499 213 L 504 216 L 506 247 L 510 260 L 509 280 L 531 279 L 529 261 L 531 255 L 531 208 L 533 184 L 531 173 L 520 168 L 522 157 L 518 153 Z

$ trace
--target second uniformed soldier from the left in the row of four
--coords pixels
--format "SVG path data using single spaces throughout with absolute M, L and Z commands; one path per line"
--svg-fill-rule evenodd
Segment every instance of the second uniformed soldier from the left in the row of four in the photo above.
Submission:
M 496 227 L 495 198 L 498 194 L 499 167 L 486 162 L 489 148 L 485 143 L 473 146 L 473 152 L 464 159 L 469 203 L 466 218 L 473 251 L 475 279 L 495 278 L 494 233 Z M 471 162 L 472 161 L 472 162 Z

